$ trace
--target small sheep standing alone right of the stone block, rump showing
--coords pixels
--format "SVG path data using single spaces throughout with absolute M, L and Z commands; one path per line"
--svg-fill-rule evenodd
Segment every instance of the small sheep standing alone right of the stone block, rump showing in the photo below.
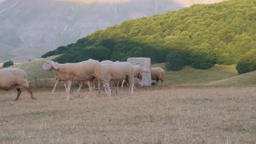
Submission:
M 156 80 L 156 86 L 158 86 L 159 80 L 161 80 L 162 85 L 164 85 L 165 71 L 160 67 L 151 68 L 151 79 Z

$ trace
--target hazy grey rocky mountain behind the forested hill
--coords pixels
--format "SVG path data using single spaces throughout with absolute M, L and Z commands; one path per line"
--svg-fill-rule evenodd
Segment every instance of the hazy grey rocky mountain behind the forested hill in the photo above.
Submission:
M 108 26 L 178 10 L 174 0 L 0 0 L 0 62 L 25 62 Z

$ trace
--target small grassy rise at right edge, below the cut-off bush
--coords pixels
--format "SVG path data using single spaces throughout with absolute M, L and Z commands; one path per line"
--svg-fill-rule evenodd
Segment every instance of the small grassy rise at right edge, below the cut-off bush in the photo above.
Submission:
M 228 85 L 256 85 L 256 71 L 237 75 L 228 79 L 210 82 L 207 86 L 228 86 Z

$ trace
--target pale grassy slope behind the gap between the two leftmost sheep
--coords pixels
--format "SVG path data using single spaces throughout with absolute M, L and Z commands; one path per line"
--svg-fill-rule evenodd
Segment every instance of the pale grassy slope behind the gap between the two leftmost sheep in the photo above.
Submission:
M 34 78 L 43 79 L 43 78 L 54 78 L 54 75 L 51 71 L 42 71 L 42 66 L 45 61 L 55 58 L 56 56 L 51 56 L 48 58 L 39 58 L 31 62 L 25 62 L 21 64 L 14 65 L 15 68 L 21 68 L 27 73 L 27 80 L 31 81 Z

